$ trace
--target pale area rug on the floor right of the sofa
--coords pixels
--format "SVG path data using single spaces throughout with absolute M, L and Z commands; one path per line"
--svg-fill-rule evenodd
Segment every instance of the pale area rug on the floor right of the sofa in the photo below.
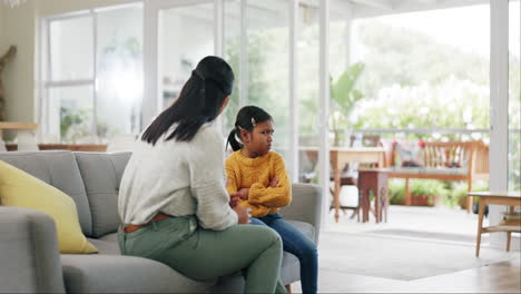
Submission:
M 520 253 L 365 233 L 321 233 L 320 270 L 412 281 L 519 258 Z

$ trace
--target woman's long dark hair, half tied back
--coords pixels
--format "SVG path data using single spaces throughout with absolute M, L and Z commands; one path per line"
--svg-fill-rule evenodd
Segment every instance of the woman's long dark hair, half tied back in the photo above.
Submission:
M 217 116 L 226 96 L 234 88 L 234 72 L 219 57 L 207 56 L 191 71 L 177 100 L 165 109 L 145 130 L 141 140 L 156 145 L 174 124 L 176 129 L 166 138 L 189 141 L 205 124 Z

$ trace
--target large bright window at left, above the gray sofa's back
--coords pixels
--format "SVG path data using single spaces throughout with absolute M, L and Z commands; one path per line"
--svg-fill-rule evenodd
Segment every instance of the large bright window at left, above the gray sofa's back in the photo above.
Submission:
M 47 23 L 43 136 L 55 135 L 61 143 L 107 143 L 116 134 L 138 134 L 141 6 L 90 10 Z

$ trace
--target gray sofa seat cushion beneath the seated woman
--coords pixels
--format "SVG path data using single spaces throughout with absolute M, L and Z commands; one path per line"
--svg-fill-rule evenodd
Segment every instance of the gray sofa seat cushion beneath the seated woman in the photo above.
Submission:
M 63 254 L 61 265 L 67 293 L 201 293 L 213 285 L 135 256 Z

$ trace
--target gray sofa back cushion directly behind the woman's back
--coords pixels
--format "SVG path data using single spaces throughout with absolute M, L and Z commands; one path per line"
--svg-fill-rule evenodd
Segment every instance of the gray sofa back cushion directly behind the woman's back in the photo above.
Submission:
M 131 153 L 75 153 L 92 215 L 92 237 L 114 233 L 118 215 L 119 183 Z

